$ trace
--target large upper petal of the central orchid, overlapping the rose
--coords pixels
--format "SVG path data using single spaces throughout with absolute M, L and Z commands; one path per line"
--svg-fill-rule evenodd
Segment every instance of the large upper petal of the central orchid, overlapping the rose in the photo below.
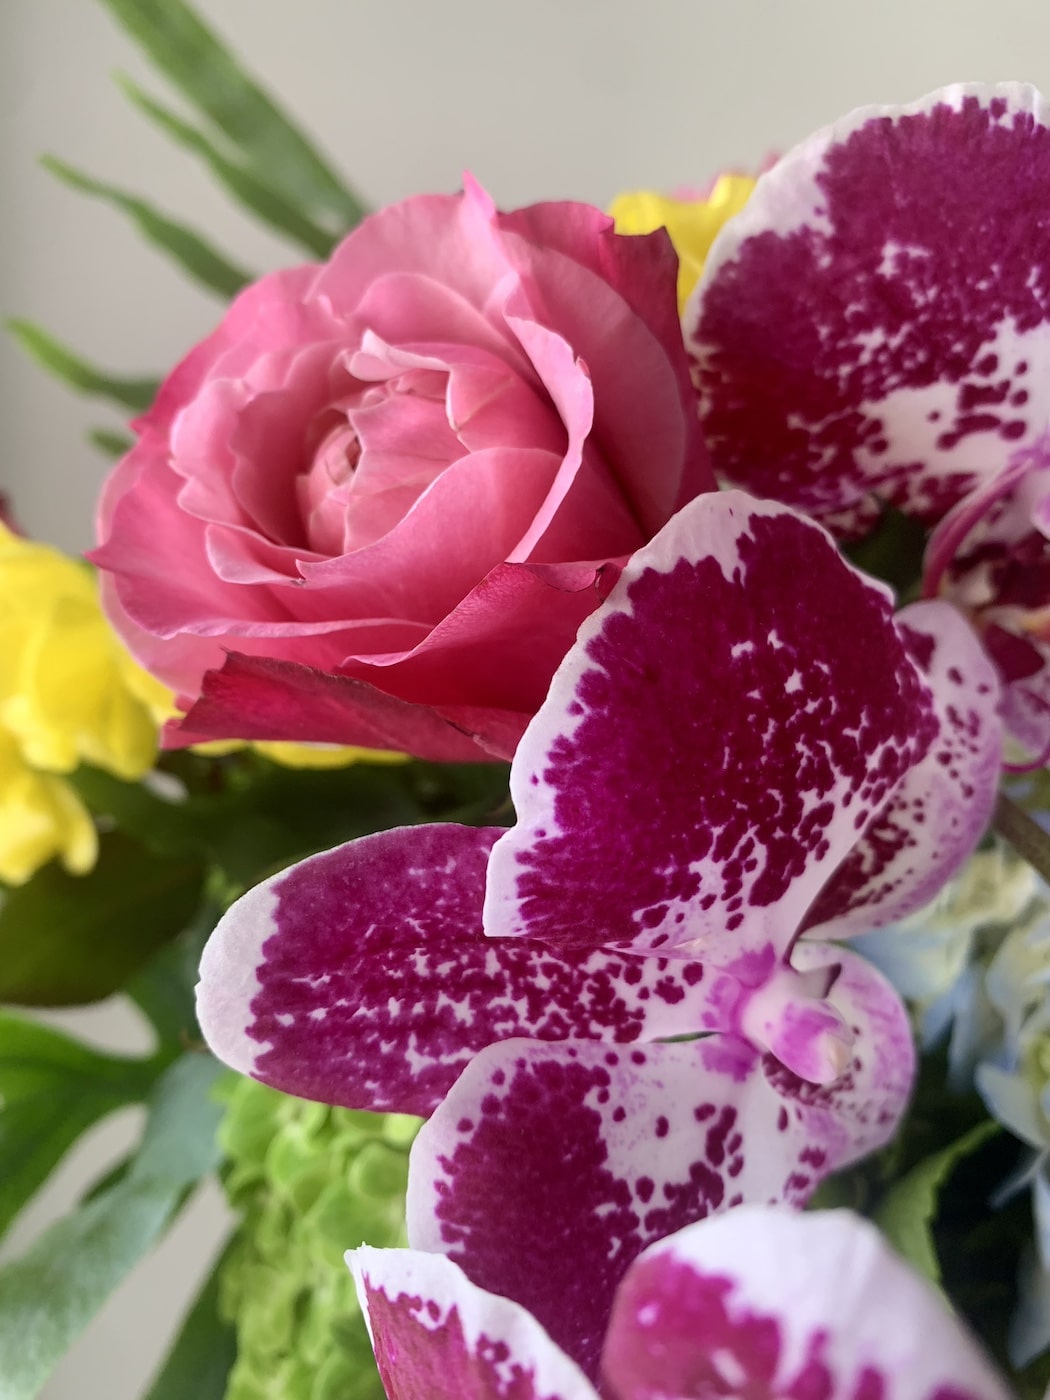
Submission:
M 762 980 L 935 732 L 881 585 L 781 505 L 699 497 L 584 624 L 518 746 L 486 932 Z

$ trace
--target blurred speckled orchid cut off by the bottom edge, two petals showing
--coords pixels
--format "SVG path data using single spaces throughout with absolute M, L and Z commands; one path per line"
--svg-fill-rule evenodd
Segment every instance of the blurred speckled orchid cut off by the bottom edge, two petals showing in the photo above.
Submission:
M 601 1392 L 535 1317 L 451 1260 L 358 1249 L 347 1261 L 398 1400 L 1009 1396 L 932 1288 L 847 1211 L 745 1205 L 652 1245 L 616 1292 Z

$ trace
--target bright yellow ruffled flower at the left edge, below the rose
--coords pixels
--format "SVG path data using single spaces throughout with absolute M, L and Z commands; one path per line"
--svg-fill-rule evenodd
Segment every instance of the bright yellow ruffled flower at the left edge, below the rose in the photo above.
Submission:
M 141 777 L 157 753 L 153 685 L 87 566 L 0 525 L 0 879 L 21 883 L 55 855 L 91 869 L 95 826 L 62 774 L 87 762 Z

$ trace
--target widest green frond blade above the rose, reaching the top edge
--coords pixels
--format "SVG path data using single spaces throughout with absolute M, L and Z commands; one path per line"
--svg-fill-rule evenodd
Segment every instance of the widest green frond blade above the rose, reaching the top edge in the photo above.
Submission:
M 336 232 L 365 210 L 311 141 L 239 67 L 185 0 L 102 0 L 113 20 L 218 132 L 259 179 Z

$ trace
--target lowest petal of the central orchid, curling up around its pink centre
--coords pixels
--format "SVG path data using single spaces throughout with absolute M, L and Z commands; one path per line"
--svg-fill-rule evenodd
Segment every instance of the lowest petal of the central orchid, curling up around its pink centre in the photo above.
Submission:
M 827 948 L 801 948 L 806 967 Z M 743 1201 L 804 1204 L 881 1147 L 914 1051 L 900 1000 L 844 955 L 832 1000 L 857 1032 L 815 1086 L 739 1036 L 610 1049 L 504 1042 L 426 1123 L 409 1168 L 409 1242 L 521 1302 L 588 1375 L 613 1291 L 655 1239 Z

